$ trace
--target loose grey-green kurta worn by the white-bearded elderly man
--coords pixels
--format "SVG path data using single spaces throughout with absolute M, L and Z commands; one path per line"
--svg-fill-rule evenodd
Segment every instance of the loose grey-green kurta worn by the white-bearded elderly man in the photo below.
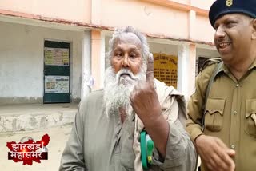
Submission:
M 79 105 L 59 170 L 134 170 L 134 116 L 123 124 L 117 113 L 107 118 L 102 99 L 103 91 L 98 90 Z M 177 120 L 170 124 L 166 158 L 154 149 L 149 170 L 193 170 L 195 156 L 194 145 Z

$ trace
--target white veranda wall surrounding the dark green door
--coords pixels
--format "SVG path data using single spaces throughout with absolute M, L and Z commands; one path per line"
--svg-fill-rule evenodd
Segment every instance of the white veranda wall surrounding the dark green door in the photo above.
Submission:
M 44 40 L 71 42 L 71 97 L 80 98 L 83 35 L 0 22 L 0 98 L 42 98 Z

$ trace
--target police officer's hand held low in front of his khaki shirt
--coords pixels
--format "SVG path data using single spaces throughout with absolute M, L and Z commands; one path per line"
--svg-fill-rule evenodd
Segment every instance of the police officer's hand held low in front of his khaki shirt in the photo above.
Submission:
M 210 170 L 233 171 L 235 168 L 235 151 L 227 146 L 218 138 L 201 135 L 195 140 L 195 147 L 201 160 Z

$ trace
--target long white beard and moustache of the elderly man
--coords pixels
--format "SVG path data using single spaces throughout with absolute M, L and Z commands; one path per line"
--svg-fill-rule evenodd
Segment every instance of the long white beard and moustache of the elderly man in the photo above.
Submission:
M 134 76 L 127 69 L 119 70 L 117 74 L 114 73 L 112 67 L 106 69 L 103 101 L 107 117 L 119 113 L 121 108 L 130 115 L 130 93 L 139 80 L 146 80 L 145 73 L 144 70 L 141 70 Z M 129 74 L 130 77 L 122 74 Z

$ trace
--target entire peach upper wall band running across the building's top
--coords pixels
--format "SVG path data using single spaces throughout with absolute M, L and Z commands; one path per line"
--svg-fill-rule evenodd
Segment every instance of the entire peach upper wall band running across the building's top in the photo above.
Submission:
M 10 10 L 25 18 L 27 14 L 40 15 L 46 17 L 42 20 L 49 17 L 54 22 L 65 19 L 81 22 L 83 26 L 92 24 L 113 28 L 130 25 L 147 34 L 213 42 L 214 30 L 206 16 L 206 10 L 209 10 L 212 2 L 214 0 L 2 0 L 0 12 Z M 178 6 L 183 6 L 183 10 L 178 9 Z M 204 10 L 202 13 L 205 14 L 196 13 L 194 7 L 199 11 Z

